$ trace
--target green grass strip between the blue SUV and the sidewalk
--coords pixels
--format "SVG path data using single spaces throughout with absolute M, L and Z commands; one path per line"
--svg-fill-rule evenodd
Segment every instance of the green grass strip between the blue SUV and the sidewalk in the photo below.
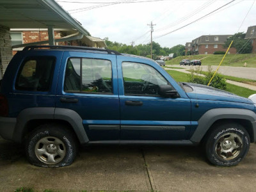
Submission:
M 170 74 L 173 79 L 175 79 L 175 81 L 177 82 L 187 82 L 188 81 L 188 75 L 183 73 L 183 72 L 179 72 L 176 70 L 166 70 L 166 72 L 168 72 L 168 74 Z M 231 93 L 235 93 L 236 95 L 239 95 L 241 97 L 249 97 L 252 94 L 255 94 L 255 91 L 250 90 L 248 88 L 243 88 L 241 86 L 236 86 L 234 84 L 229 84 L 227 83 L 227 92 L 231 92 Z

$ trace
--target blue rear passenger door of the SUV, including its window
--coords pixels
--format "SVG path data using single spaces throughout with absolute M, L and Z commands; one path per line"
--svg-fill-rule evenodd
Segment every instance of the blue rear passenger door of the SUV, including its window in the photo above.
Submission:
M 56 107 L 76 111 L 90 141 L 118 140 L 120 109 L 116 56 L 64 52 Z

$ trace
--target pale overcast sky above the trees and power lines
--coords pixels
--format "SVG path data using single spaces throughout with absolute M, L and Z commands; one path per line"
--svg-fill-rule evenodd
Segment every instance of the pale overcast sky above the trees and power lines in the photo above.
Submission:
M 244 17 L 248 13 L 239 32 L 246 33 L 249 26 L 256 25 L 255 0 L 236 0 L 221 10 L 205 17 L 185 28 L 165 35 L 207 13 L 229 3 L 232 0 L 56 0 L 66 11 L 77 19 L 92 36 L 105 38 L 113 42 L 135 45 L 150 42 L 150 24 L 154 26 L 153 40 L 162 47 L 173 47 L 201 35 L 232 35 L 237 33 Z M 66 1 L 66 2 L 64 2 Z M 73 2 L 73 3 L 67 3 Z M 144 1 L 141 3 L 129 3 Z M 147 1 L 147 2 L 145 2 Z M 151 1 L 151 2 L 150 2 Z M 76 2 L 76 3 L 74 3 Z M 82 3 L 77 3 L 82 2 Z M 92 4 L 93 2 L 93 4 Z M 106 4 L 116 3 L 119 4 Z M 127 3 L 120 3 L 127 2 Z M 254 4 L 253 4 L 254 3 Z M 108 5 L 108 6 L 106 6 Z M 76 10 L 92 8 L 91 10 Z M 72 11 L 73 10 L 73 11 Z M 161 36 L 165 35 L 165 36 Z M 157 38 L 157 36 L 161 36 Z

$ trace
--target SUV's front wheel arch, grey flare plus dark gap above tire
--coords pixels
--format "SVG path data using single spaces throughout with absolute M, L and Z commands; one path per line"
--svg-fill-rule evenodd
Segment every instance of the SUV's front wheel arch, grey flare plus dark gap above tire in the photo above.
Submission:
M 250 135 L 250 141 L 256 139 L 256 114 L 248 109 L 234 108 L 218 108 L 207 111 L 199 120 L 196 131 L 191 136 L 190 140 L 195 143 L 200 143 L 205 136 L 217 124 L 236 122 L 243 125 L 244 129 Z

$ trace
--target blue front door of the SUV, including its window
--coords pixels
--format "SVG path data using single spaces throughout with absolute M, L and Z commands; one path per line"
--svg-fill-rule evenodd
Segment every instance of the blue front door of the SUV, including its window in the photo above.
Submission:
M 117 61 L 120 140 L 186 140 L 191 124 L 191 102 L 186 93 L 179 90 L 182 94 L 175 99 L 161 97 L 159 85 L 172 85 L 167 80 L 172 78 L 158 71 L 162 68 L 140 63 L 145 60 L 139 58 L 118 56 Z

